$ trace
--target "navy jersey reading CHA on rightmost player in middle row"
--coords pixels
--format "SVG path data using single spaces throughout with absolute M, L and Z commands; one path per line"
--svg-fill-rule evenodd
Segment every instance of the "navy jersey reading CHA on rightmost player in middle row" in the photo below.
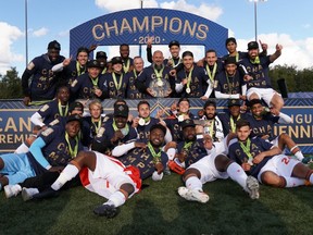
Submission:
M 247 115 L 247 121 L 250 122 L 252 132 L 251 137 L 262 137 L 268 135 L 268 140 L 272 141 L 276 138 L 274 135 L 274 124 L 277 123 L 279 116 L 274 116 L 271 113 L 266 113 L 262 116 L 262 120 L 256 120 L 253 115 Z

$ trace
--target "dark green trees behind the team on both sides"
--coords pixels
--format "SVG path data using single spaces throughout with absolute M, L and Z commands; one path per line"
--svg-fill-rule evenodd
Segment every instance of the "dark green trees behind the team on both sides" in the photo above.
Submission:
M 275 65 L 270 70 L 274 89 L 279 90 L 277 81 L 284 78 L 288 92 L 313 91 L 313 66 L 298 70 L 296 65 Z M 0 99 L 22 99 L 22 82 L 16 67 L 5 75 L 0 74 Z

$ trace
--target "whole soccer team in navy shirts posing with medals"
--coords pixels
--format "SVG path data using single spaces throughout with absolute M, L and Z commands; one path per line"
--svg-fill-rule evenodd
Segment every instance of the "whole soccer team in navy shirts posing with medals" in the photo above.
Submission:
M 151 41 L 147 67 L 142 58 L 129 58 L 128 45 L 108 62 L 104 51 L 88 60 L 95 46 L 65 59 L 57 40 L 27 65 L 23 102 L 42 106 L 30 118 L 30 137 L 14 153 L 0 156 L 7 198 L 20 193 L 24 200 L 47 198 L 83 185 L 108 199 L 93 212 L 113 218 L 143 180 L 161 181 L 171 171 L 185 183 L 178 195 L 202 203 L 209 201 L 202 185 L 216 178 L 230 177 L 251 199 L 260 197 L 259 183 L 313 183 L 311 158 L 286 133 L 273 133 L 275 123 L 292 122 L 280 112 L 284 99 L 268 77 L 280 45 L 271 55 L 261 41 L 240 52 L 236 39 L 227 38 L 227 55 L 217 58 L 212 49 L 196 63 L 191 51 L 180 57 L 177 40 L 170 42 L 165 60 L 162 51 L 152 53 Z M 148 100 L 158 96 L 178 100 L 166 116 L 164 110 L 151 116 Z M 189 98 L 203 100 L 198 115 L 190 112 Z M 103 113 L 104 99 L 116 99 L 112 113 Z M 127 99 L 140 100 L 138 115 L 129 113 Z M 216 112 L 216 99 L 228 100 L 225 113 Z M 284 154 L 286 148 L 292 157 Z

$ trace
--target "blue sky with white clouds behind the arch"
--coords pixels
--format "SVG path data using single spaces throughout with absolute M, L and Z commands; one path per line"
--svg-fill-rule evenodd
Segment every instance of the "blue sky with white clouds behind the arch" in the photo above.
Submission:
M 47 52 L 49 41 L 61 44 L 61 54 L 70 57 L 70 29 L 108 13 L 139 9 L 140 0 L 1 0 L 0 74 L 16 67 L 22 76 L 26 66 L 25 2 L 27 1 L 28 62 Z M 258 1 L 258 0 L 256 0 Z M 258 38 L 268 45 L 283 45 L 283 54 L 274 65 L 295 65 L 299 70 L 313 65 L 312 0 L 143 0 L 143 8 L 173 9 L 193 13 L 226 28 L 236 37 L 238 49 L 247 50 L 254 40 L 254 5 L 256 4 Z M 103 47 L 109 59 L 118 55 L 117 47 Z M 158 47 L 153 47 L 159 49 Z M 160 47 L 168 53 L 167 47 Z M 185 49 L 181 47 L 181 51 Z M 99 50 L 99 48 L 97 49 Z M 195 59 L 203 51 L 195 50 Z M 202 50 L 202 49 L 201 49 Z M 193 51 L 193 52 L 195 52 Z M 130 48 L 130 57 L 137 55 Z M 143 57 L 143 55 L 142 55 Z M 167 55 L 168 57 L 168 55 Z M 148 64 L 146 64 L 148 65 Z

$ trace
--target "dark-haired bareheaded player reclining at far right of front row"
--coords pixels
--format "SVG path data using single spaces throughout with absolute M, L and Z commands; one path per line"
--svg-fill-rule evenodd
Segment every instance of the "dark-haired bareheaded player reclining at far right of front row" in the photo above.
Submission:
M 280 154 L 278 147 L 262 138 L 251 139 L 248 121 L 239 120 L 236 127 L 238 141 L 229 146 L 228 154 L 247 174 L 274 187 L 297 187 L 306 181 L 313 184 L 313 170 L 292 157 Z

